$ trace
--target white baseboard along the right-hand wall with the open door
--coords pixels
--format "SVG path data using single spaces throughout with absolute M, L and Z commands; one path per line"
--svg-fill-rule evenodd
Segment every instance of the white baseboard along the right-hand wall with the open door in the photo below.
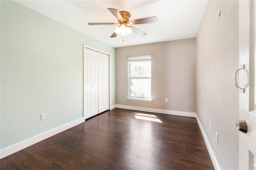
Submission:
M 196 121 L 197 121 L 197 123 L 198 123 L 198 125 L 199 125 L 199 128 L 200 128 L 200 130 L 201 130 L 201 132 L 202 132 L 202 135 L 203 135 L 203 137 L 204 137 L 204 142 L 205 142 L 206 147 L 207 147 L 207 149 L 208 149 L 208 152 L 209 152 L 209 154 L 210 154 L 210 157 L 211 157 L 212 164 L 213 164 L 214 168 L 215 168 L 216 170 L 221 170 L 220 164 L 218 163 L 218 160 L 217 160 L 217 158 L 216 158 L 216 156 L 215 156 L 215 154 L 214 154 L 214 152 L 213 152 L 213 150 L 212 150 L 212 147 L 211 147 L 211 145 L 210 145 L 210 142 L 209 142 L 209 140 L 208 140 L 208 138 L 207 138 L 207 136 L 206 136 L 206 134 L 205 134 L 205 132 L 204 132 L 204 128 L 202 127 L 202 124 L 201 124 L 200 120 L 198 119 L 197 115 L 196 115 Z

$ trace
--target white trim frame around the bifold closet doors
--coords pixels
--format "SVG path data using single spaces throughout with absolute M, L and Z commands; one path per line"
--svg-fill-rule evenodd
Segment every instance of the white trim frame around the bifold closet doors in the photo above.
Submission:
M 110 95 L 111 95 L 110 58 L 111 58 L 111 55 L 110 55 L 110 53 L 108 53 L 106 51 L 102 51 L 102 50 L 96 49 L 94 47 L 90 47 L 88 45 L 84 45 L 84 51 L 85 51 L 85 48 L 88 48 L 88 49 L 91 49 L 91 50 L 94 50 L 94 51 L 97 51 L 97 52 L 100 52 L 100 53 L 104 53 L 104 54 L 109 56 L 109 58 L 108 58 L 108 105 L 109 106 L 108 107 L 110 109 L 110 103 L 111 103 L 111 97 L 110 97 Z M 84 103 L 85 102 L 85 91 L 86 91 L 85 83 L 84 83 L 84 81 L 85 81 L 84 69 L 85 69 L 85 65 L 86 65 L 86 63 L 85 63 L 86 60 L 84 59 L 84 57 L 85 57 L 85 55 L 83 54 L 83 117 L 84 117 L 84 120 L 85 120 L 85 119 L 88 119 L 88 118 L 85 117 L 86 116 L 85 115 L 86 103 Z

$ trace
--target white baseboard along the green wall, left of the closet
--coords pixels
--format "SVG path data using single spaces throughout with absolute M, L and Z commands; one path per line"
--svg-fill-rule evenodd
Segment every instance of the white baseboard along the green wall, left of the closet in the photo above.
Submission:
M 32 138 L 28 138 L 26 140 L 23 140 L 21 142 L 11 145 L 11 146 L 7 146 L 6 148 L 3 148 L 0 150 L 0 159 L 4 158 L 10 154 L 13 154 L 15 152 L 18 152 L 19 150 L 22 150 L 28 146 L 31 146 L 37 142 L 40 142 L 46 138 L 49 138 L 55 134 L 58 134 L 64 130 L 67 130 L 68 128 L 72 128 L 72 127 L 74 127 L 80 123 L 83 123 L 83 122 L 84 122 L 84 118 L 81 117 L 80 119 L 77 119 L 70 123 L 66 123 L 65 125 L 61 125 L 60 127 L 53 128 L 51 130 L 48 130 L 46 132 L 43 132 L 36 136 L 33 136 Z

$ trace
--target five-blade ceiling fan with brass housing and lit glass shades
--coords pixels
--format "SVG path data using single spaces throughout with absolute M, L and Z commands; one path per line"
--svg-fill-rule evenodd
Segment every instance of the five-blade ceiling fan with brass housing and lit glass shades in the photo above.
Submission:
M 88 25 L 94 26 L 94 25 L 118 25 L 118 24 L 120 24 L 120 26 L 118 26 L 116 28 L 116 30 L 114 31 L 112 36 L 110 36 L 110 38 L 114 38 L 117 35 L 127 36 L 128 34 L 131 34 L 132 32 L 134 32 L 135 34 L 138 34 L 139 36 L 142 36 L 142 37 L 146 36 L 147 34 L 145 32 L 143 32 L 131 25 L 156 23 L 158 21 L 156 16 L 129 21 L 130 16 L 131 16 L 131 14 L 129 12 L 126 12 L 126 11 L 119 12 L 118 10 L 113 9 L 113 8 L 108 8 L 108 10 L 116 17 L 116 19 L 118 20 L 118 23 L 102 22 L 102 23 L 88 23 Z

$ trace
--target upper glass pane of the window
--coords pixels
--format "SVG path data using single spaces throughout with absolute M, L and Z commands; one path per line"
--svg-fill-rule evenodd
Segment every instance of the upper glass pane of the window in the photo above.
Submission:
M 130 77 L 151 77 L 151 61 L 130 62 Z

